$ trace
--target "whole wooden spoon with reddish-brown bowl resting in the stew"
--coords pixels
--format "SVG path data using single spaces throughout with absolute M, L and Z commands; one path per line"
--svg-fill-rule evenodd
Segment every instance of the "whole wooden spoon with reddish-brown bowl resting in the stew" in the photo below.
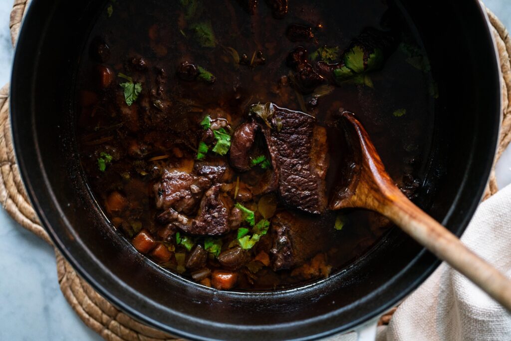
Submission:
M 355 176 L 345 192 L 334 196 L 331 209 L 362 208 L 379 212 L 511 312 L 511 280 L 470 251 L 401 192 L 352 113 L 343 112 L 341 120 L 347 142 L 354 149 Z

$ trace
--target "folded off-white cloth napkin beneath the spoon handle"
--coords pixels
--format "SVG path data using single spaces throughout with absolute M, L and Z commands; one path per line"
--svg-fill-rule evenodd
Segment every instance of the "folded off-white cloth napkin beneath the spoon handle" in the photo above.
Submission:
M 461 240 L 511 277 L 511 185 L 480 204 Z M 379 327 L 377 340 L 511 340 L 511 314 L 442 263 Z

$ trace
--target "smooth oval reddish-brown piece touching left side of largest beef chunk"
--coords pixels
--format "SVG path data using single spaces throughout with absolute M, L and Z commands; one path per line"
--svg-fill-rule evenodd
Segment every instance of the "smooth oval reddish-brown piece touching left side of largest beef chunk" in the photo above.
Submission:
M 250 170 L 249 152 L 254 144 L 255 132 L 259 129 L 256 122 L 247 122 L 239 126 L 230 143 L 230 164 L 238 171 Z

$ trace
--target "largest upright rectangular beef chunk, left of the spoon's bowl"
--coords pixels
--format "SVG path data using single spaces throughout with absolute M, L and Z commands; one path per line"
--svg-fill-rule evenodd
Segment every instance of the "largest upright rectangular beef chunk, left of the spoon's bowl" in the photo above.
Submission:
M 266 105 L 271 127 L 262 125 L 273 169 L 278 169 L 278 193 L 291 207 L 309 213 L 327 208 L 329 166 L 327 134 L 303 112 Z M 280 127 L 280 129 L 278 129 Z

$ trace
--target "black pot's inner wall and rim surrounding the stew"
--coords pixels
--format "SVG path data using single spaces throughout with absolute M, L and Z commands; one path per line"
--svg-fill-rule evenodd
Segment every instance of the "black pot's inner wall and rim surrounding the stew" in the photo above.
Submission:
M 148 2 L 150 3 L 150 2 Z M 162 271 L 111 228 L 87 187 L 74 136 L 74 72 L 103 0 L 33 0 L 11 85 L 18 165 L 39 218 L 65 258 L 136 319 L 196 339 L 310 339 L 353 329 L 421 284 L 439 261 L 393 229 L 327 280 L 273 292 L 225 292 Z M 461 235 L 490 174 L 500 122 L 493 37 L 477 0 L 403 0 L 440 97 L 419 204 Z

